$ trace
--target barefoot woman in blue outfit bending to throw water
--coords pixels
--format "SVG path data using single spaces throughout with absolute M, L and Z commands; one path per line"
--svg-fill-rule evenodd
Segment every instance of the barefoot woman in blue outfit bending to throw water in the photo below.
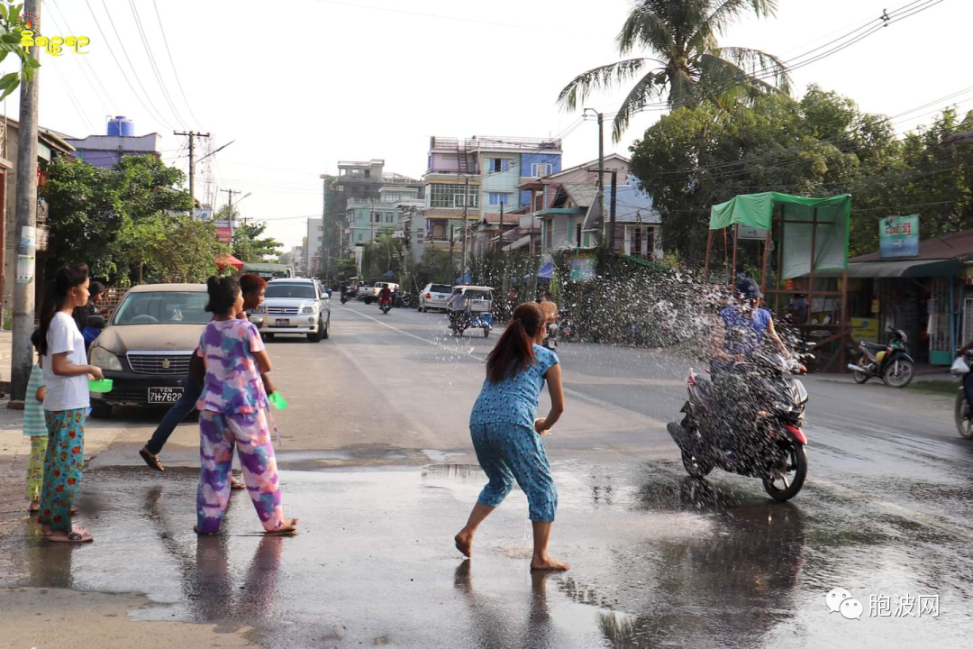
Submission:
M 558 355 L 540 345 L 544 312 L 535 304 L 514 309 L 503 336 L 486 357 L 486 380 L 470 415 L 470 435 L 489 482 L 480 493 L 466 526 L 455 537 L 456 549 L 470 557 L 473 536 L 514 486 L 523 489 L 533 523 L 531 570 L 567 570 L 548 555 L 558 491 L 540 435 L 550 431 L 564 412 Z M 545 380 L 551 412 L 535 419 Z

